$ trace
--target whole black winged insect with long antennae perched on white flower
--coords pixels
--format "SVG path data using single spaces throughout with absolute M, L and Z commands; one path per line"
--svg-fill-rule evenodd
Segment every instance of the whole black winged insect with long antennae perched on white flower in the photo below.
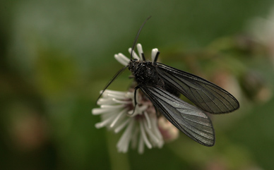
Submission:
M 213 146 L 215 143 L 213 124 L 205 112 L 210 114 L 229 113 L 239 108 L 239 102 L 229 92 L 208 80 L 158 63 L 159 51 L 154 61 L 145 61 L 143 54 L 142 60 L 133 59 L 133 49 L 141 28 L 133 43 L 129 64 L 114 75 L 105 89 L 118 75 L 129 68 L 138 84 L 135 87 L 135 94 L 136 90 L 141 89 L 165 118 L 189 138 L 202 145 Z M 197 107 L 179 99 L 179 94 L 187 97 Z

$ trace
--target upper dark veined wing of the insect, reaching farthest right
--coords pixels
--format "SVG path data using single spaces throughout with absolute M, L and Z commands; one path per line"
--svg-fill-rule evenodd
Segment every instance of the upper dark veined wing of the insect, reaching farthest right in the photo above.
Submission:
M 239 108 L 235 97 L 208 80 L 162 63 L 157 63 L 156 69 L 165 83 L 177 89 L 204 111 L 224 114 Z

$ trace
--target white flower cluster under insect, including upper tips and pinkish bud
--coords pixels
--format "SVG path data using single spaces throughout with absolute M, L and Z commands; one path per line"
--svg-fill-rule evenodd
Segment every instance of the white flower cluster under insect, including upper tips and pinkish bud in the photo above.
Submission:
M 141 44 L 136 45 L 139 56 L 142 56 L 143 49 Z M 153 49 L 151 59 L 154 61 L 158 49 Z M 129 48 L 131 54 L 131 48 Z M 133 51 L 133 59 L 142 61 Z M 115 54 L 115 59 L 124 66 L 127 66 L 130 59 L 124 54 Z M 134 110 L 134 89 L 129 92 L 118 92 L 105 90 L 97 104 L 100 108 L 92 110 L 94 115 L 101 115 L 102 121 L 96 123 L 96 128 L 107 127 L 119 133 L 124 129 L 123 135 L 117 143 L 119 152 L 127 152 L 129 145 L 133 148 L 138 145 L 138 152 L 143 153 L 144 146 L 148 148 L 162 147 L 165 141 L 171 141 L 178 137 L 179 130 L 163 117 L 157 117 L 153 104 L 143 93 L 136 93 L 137 105 Z M 164 138 L 164 139 L 163 139 Z

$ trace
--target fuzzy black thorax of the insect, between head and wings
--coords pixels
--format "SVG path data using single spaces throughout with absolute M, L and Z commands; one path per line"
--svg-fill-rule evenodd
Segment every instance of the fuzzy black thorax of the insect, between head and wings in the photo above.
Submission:
M 134 75 L 138 84 L 159 85 L 161 87 L 163 85 L 153 62 L 151 61 L 130 61 L 129 71 Z

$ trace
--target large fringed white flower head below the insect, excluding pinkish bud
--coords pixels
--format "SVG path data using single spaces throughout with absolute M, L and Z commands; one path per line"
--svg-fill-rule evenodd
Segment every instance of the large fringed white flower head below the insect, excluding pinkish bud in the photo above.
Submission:
M 162 147 L 164 141 L 157 126 L 153 104 L 138 95 L 138 104 L 133 112 L 133 102 L 134 92 L 105 90 L 98 101 L 101 107 L 92 110 L 94 115 L 102 116 L 102 121 L 95 127 L 107 126 L 115 133 L 125 129 L 117 143 L 119 152 L 127 152 L 130 142 L 133 148 L 138 144 L 139 153 L 143 153 L 144 145 L 148 148 Z

